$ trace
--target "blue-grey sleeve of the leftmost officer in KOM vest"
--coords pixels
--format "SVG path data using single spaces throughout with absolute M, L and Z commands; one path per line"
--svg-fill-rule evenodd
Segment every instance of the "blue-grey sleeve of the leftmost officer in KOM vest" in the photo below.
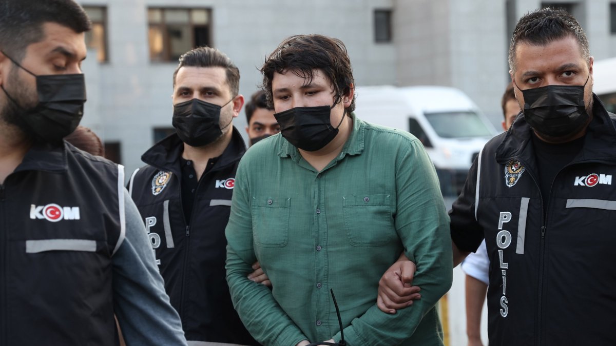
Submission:
M 137 207 L 124 190 L 126 238 L 111 258 L 113 308 L 126 345 L 186 345 Z

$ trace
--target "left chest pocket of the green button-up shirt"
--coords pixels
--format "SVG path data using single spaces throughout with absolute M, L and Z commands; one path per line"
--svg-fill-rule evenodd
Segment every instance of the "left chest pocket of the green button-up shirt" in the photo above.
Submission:
M 260 247 L 285 247 L 289 241 L 291 198 L 253 197 L 253 238 Z

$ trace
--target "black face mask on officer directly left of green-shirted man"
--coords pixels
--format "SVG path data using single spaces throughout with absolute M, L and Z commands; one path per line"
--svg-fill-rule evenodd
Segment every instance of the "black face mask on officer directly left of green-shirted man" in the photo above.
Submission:
M 231 102 L 233 99 L 229 100 Z M 203 147 L 222 137 L 222 129 L 231 124 L 221 127 L 221 109 L 229 104 L 222 106 L 204 102 L 199 99 L 192 99 L 186 102 L 177 103 L 173 106 L 172 125 L 176 128 L 177 135 L 182 142 L 191 147 Z

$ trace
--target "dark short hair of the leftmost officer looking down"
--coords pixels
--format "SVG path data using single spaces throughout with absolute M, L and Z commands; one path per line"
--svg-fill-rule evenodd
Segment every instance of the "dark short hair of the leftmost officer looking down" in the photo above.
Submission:
M 26 47 L 44 39 L 43 24 L 49 22 L 66 26 L 76 33 L 92 28 L 86 12 L 73 0 L 2 0 L 0 50 L 21 62 Z

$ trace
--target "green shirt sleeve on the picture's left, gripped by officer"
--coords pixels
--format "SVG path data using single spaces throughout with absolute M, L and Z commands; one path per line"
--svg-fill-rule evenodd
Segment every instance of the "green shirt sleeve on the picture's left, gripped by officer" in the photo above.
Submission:
M 250 334 L 263 345 L 294 346 L 307 337 L 280 308 L 272 291 L 248 279 L 256 262 L 248 177 L 242 161 L 235 187 L 227 236 L 227 283 L 233 306 Z

